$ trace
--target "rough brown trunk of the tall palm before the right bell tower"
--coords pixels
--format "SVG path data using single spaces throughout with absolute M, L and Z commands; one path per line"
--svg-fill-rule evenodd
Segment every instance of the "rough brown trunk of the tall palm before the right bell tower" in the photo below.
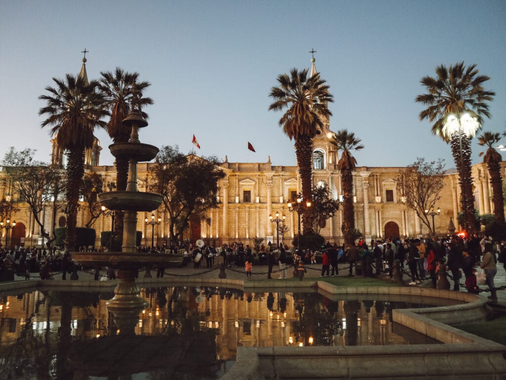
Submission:
M 299 175 L 301 176 L 303 199 L 313 198 L 313 166 L 311 164 L 313 139 L 309 136 L 299 136 L 295 140 L 295 152 Z M 304 235 L 313 233 L 313 216 L 311 209 L 305 208 L 302 213 L 302 233 Z

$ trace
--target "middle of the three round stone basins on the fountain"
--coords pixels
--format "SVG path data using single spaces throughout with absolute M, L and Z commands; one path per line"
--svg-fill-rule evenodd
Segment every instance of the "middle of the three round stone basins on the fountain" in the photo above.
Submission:
M 134 191 L 108 191 L 98 194 L 100 203 L 110 210 L 153 211 L 161 204 L 160 194 Z

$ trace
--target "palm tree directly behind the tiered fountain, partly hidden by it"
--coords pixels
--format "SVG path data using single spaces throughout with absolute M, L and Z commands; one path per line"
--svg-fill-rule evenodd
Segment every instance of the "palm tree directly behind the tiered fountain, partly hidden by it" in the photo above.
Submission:
M 143 105 L 153 104 L 151 98 L 143 98 L 142 91 L 151 86 L 147 81 L 138 81 L 138 72 L 123 71 L 116 67 L 114 73 L 110 71 L 101 71 L 99 89 L 103 92 L 107 108 L 111 112 L 111 118 L 107 123 L 107 132 L 114 143 L 125 143 L 130 140 L 132 129 L 123 124 L 123 120 L 134 108 L 134 102 L 139 105 L 139 109 Z M 144 118 L 148 118 L 145 112 L 142 112 Z M 125 158 L 116 158 L 116 189 L 126 190 L 126 182 L 128 181 L 129 160 Z M 123 241 L 123 212 L 116 212 L 116 223 L 114 224 L 115 242 Z M 113 246 L 112 250 L 121 250 L 120 246 Z

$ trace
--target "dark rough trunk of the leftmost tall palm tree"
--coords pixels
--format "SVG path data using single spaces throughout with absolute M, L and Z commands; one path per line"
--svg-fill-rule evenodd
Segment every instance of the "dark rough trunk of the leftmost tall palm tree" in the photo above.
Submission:
M 85 150 L 70 149 L 67 162 L 67 241 L 66 251 L 74 251 L 76 246 L 77 212 L 79 208 L 79 189 L 85 175 Z

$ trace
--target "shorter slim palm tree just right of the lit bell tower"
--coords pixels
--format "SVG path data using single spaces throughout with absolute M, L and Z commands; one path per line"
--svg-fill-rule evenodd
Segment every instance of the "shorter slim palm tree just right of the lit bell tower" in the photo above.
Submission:
M 364 145 L 360 144 L 362 140 L 357 139 L 353 132 L 341 130 L 332 136 L 330 143 L 335 145 L 337 150 L 341 150 L 341 158 L 338 161 L 338 167 L 341 171 L 343 186 L 343 235 L 346 246 L 350 246 L 355 241 L 355 210 L 353 206 L 353 172 L 357 165 L 357 159 L 352 156 L 352 150 L 360 150 Z

